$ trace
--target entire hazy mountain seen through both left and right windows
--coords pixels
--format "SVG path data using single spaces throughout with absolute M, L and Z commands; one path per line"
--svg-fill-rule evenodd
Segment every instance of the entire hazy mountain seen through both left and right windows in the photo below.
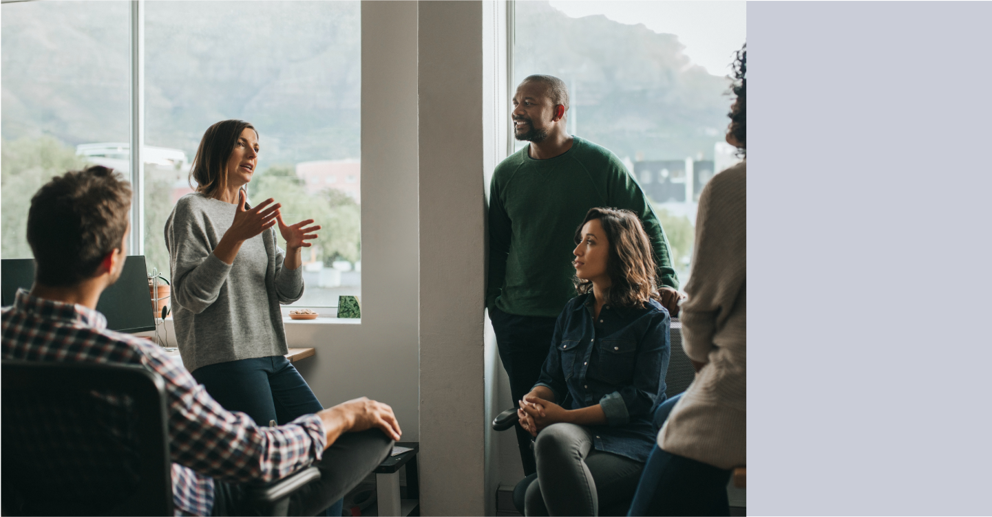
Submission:
M 359 157 L 359 0 L 148 0 L 146 143 L 195 153 L 212 123 L 261 135 L 260 168 Z M 0 134 L 68 145 L 127 142 L 128 3 L 3 5 Z M 637 159 L 712 157 L 728 81 L 691 64 L 675 35 L 518 0 L 516 76 L 558 75 L 575 133 Z

